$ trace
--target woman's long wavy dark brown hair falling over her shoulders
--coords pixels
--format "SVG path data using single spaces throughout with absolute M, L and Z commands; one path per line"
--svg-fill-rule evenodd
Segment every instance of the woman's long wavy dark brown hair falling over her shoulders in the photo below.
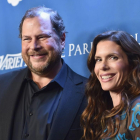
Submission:
M 121 102 L 116 107 L 113 107 L 109 92 L 102 90 L 94 73 L 96 47 L 101 40 L 110 40 L 120 45 L 129 62 L 130 73 L 123 85 Z M 87 65 L 91 74 L 86 85 L 88 105 L 81 117 L 81 124 L 84 129 L 83 139 L 108 139 L 118 133 L 122 111 L 127 111 L 129 102 L 140 93 L 140 46 L 126 32 L 108 31 L 101 33 L 93 41 Z

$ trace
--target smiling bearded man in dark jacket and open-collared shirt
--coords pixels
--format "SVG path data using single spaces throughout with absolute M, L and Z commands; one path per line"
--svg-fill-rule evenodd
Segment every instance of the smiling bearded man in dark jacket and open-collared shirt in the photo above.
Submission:
M 19 29 L 27 68 L 0 76 L 0 140 L 80 140 L 86 78 L 61 59 L 63 20 L 36 7 Z

